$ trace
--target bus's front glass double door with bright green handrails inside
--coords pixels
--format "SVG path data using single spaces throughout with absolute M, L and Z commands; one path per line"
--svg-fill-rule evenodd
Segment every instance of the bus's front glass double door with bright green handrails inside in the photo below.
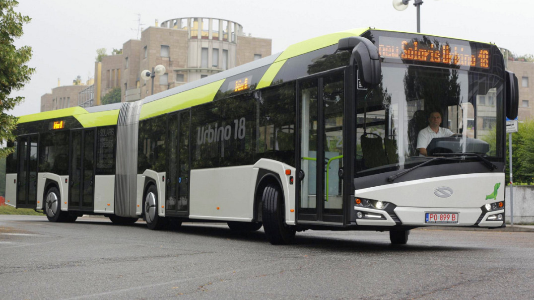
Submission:
M 343 222 L 344 73 L 301 80 L 298 222 Z

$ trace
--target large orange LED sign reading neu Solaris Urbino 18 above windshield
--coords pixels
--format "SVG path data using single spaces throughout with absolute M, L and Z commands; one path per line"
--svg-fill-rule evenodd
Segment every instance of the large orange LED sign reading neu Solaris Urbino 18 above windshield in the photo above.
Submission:
M 489 68 L 490 50 L 479 48 L 474 52 L 469 45 L 421 43 L 397 37 L 379 37 L 380 56 L 400 60 L 423 61 L 444 65 Z

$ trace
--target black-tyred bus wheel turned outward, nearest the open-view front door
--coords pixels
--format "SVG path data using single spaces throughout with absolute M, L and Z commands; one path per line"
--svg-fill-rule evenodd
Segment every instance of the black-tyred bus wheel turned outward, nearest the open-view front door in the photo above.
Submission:
M 262 196 L 263 230 L 267 240 L 273 245 L 288 244 L 295 237 L 295 227 L 285 222 L 284 199 L 280 188 L 269 184 Z

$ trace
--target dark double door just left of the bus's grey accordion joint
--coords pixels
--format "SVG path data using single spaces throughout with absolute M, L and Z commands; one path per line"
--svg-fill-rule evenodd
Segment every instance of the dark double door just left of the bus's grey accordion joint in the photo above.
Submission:
M 69 210 L 93 211 L 95 134 L 94 128 L 70 132 Z

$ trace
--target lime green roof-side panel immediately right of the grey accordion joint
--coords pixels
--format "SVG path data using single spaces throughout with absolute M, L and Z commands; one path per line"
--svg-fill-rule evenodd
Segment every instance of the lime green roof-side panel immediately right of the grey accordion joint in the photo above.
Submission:
M 213 101 L 226 79 L 143 104 L 139 120 Z

